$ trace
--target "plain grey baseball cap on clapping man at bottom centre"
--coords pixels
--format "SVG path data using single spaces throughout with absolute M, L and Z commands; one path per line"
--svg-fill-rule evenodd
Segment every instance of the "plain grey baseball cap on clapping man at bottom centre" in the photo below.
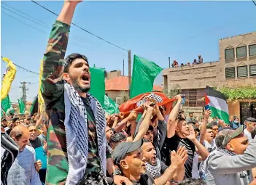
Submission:
M 139 149 L 143 144 L 143 140 L 139 139 L 135 142 L 123 142 L 115 147 L 114 152 L 112 153 L 112 157 L 115 164 L 119 164 L 121 160 L 125 157 L 126 154 Z

